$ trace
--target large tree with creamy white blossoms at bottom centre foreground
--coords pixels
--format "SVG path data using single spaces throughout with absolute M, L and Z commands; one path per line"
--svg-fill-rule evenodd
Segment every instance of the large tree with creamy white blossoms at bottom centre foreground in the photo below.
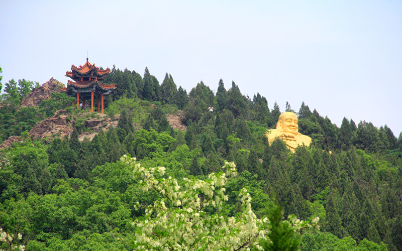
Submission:
M 227 215 L 224 186 L 228 177 L 237 175 L 233 162 L 225 162 L 225 173 L 212 173 L 207 180 L 191 176 L 179 186 L 172 177 L 162 178 L 164 167 L 145 168 L 127 156 L 121 160 L 134 166 L 134 177 L 141 178 L 143 190 L 154 189 L 163 195 L 133 222 L 137 249 L 248 250 L 261 248 L 258 242 L 266 240 L 267 218 L 256 217 L 245 188 L 239 194 L 241 212 Z

